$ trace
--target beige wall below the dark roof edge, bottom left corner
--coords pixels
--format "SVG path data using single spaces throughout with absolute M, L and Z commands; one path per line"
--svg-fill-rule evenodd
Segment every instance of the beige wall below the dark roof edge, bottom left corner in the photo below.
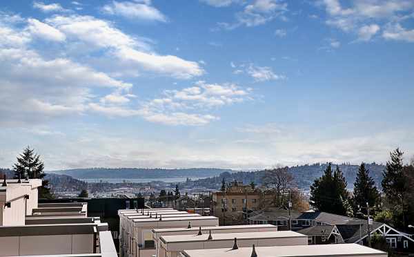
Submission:
M 90 254 L 93 235 L 3 236 L 0 256 Z

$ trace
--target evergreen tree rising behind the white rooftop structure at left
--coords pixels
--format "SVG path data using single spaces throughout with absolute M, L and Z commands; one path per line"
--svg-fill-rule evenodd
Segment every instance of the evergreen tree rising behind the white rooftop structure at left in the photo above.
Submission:
M 43 169 L 44 164 L 40 156 L 34 153 L 34 149 L 27 146 L 26 149 L 23 149 L 23 153 L 17 156 L 17 162 L 13 165 L 14 178 L 41 179 L 42 186 L 39 188 L 39 198 L 52 199 L 49 181 L 44 180 L 46 174 Z

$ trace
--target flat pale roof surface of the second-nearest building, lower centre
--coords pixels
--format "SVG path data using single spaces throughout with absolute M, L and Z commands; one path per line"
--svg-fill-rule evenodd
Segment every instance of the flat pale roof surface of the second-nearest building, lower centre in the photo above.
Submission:
M 174 242 L 197 242 L 197 241 L 217 241 L 217 240 L 234 240 L 237 239 L 268 239 L 268 238 L 308 238 L 303 234 L 294 231 L 263 231 L 250 233 L 223 233 L 212 234 L 213 239 L 208 240 L 208 234 L 201 236 L 195 235 L 172 235 L 161 236 L 160 240 L 166 244 Z

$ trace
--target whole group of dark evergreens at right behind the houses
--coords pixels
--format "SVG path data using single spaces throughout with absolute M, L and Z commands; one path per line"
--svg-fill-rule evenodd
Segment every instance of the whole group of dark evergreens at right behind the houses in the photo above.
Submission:
M 359 166 L 353 194 L 346 189 L 339 166 L 333 171 L 328 164 L 322 177 L 311 185 L 311 204 L 319 211 L 359 218 L 366 218 L 369 208 L 375 220 L 406 231 L 414 222 L 414 162 L 404 164 L 403 155 L 400 149 L 390 153 L 382 173 L 382 194 L 364 162 Z

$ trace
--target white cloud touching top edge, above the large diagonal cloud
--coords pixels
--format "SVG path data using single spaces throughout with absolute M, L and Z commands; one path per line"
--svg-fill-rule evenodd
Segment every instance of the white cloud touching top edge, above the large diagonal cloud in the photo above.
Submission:
M 108 15 L 119 15 L 129 19 L 166 22 L 166 17 L 157 8 L 151 6 L 151 1 L 112 1 L 102 7 Z

